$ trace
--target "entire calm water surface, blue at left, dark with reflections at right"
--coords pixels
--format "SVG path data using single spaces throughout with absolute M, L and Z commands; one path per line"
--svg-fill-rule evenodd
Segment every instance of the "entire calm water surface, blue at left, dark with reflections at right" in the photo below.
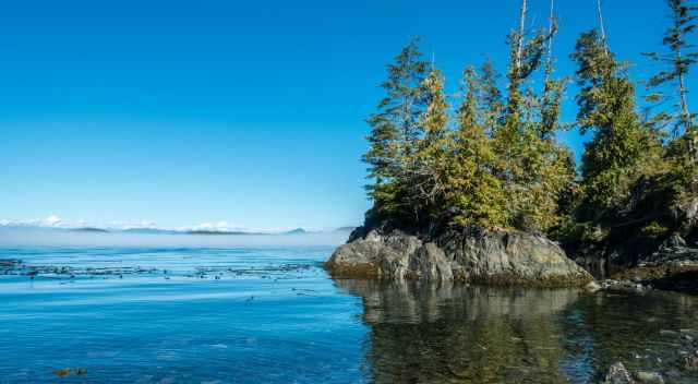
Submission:
M 334 281 L 330 252 L 0 249 L 0 383 L 698 381 L 698 298 Z

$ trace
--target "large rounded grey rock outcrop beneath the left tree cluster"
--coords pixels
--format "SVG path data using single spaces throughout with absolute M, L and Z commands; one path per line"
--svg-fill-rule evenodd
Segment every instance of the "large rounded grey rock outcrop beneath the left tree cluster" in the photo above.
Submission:
M 555 242 L 520 231 L 419 237 L 378 228 L 357 233 L 327 261 L 333 275 L 533 286 L 592 280 Z

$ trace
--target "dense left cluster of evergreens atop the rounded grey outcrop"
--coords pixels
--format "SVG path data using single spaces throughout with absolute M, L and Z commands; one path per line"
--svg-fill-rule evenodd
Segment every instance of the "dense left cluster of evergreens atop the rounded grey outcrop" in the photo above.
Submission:
M 506 105 L 491 63 L 481 71 L 468 68 L 455 121 L 441 72 L 424 75 L 414 41 L 402 50 L 383 84 L 386 98 L 369 119 L 371 148 L 364 160 L 374 181 L 368 188 L 372 219 L 412 228 L 540 232 L 559 224 L 561 201 L 575 178 L 571 155 L 554 134 L 562 125 L 564 81 L 550 79 L 549 60 L 541 94 L 518 91 L 540 68 L 550 37 L 539 33 L 521 40 Z

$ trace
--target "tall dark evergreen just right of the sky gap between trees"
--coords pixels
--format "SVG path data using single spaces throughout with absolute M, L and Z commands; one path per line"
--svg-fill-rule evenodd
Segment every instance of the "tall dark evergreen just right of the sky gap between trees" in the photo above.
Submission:
M 648 146 L 635 111 L 635 87 L 597 31 L 583 33 L 571 59 L 577 63 L 577 124 L 593 132 L 583 154 L 586 219 L 601 219 L 627 197 Z

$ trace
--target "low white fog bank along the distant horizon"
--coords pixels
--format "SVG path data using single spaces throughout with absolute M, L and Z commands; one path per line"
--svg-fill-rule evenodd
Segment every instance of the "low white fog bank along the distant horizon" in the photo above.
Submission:
M 0 247 L 333 247 L 346 242 L 348 237 L 348 231 L 292 235 L 142 235 L 124 232 L 81 232 L 41 228 L 0 228 Z

